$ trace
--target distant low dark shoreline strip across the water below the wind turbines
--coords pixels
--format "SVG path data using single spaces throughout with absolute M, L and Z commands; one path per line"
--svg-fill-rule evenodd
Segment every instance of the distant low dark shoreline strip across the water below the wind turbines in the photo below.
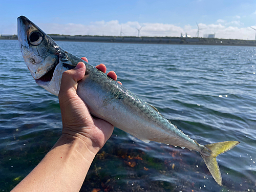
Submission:
M 117 42 L 130 44 L 166 44 L 166 45 L 223 45 L 255 46 L 255 40 L 219 39 L 219 38 L 185 38 L 185 37 L 134 37 L 134 36 L 92 36 L 92 35 L 57 35 L 49 34 L 56 41 L 82 42 Z M 0 40 L 17 40 L 17 35 L 0 36 Z

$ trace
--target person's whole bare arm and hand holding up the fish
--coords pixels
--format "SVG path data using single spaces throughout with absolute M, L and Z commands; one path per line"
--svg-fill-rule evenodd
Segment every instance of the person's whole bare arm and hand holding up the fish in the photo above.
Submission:
M 106 71 L 104 65 L 97 68 Z M 45 158 L 12 191 L 80 190 L 95 155 L 114 129 L 112 124 L 93 118 L 76 94 L 77 81 L 85 71 L 84 63 L 79 62 L 75 69 L 63 73 L 59 92 L 62 135 Z M 114 72 L 108 75 L 116 80 Z

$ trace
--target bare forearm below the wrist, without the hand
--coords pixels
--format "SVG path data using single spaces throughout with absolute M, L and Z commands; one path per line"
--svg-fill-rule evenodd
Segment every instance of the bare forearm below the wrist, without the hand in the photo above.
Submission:
M 97 152 L 90 140 L 62 135 L 12 191 L 79 191 Z

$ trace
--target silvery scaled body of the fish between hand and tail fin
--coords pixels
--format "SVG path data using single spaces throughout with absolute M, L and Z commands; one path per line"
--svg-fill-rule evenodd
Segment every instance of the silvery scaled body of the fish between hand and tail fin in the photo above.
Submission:
M 202 146 L 178 130 L 154 106 L 94 67 L 88 66 L 87 69 L 88 72 L 78 83 L 77 93 L 94 116 L 144 142 L 156 141 L 201 151 Z

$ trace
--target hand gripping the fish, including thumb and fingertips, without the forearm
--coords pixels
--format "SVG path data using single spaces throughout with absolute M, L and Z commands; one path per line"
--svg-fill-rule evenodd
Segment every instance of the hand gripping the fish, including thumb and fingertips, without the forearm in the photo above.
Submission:
M 88 62 L 86 57 L 82 59 Z M 103 73 L 106 72 L 106 67 L 102 63 L 96 68 Z M 97 153 L 112 135 L 114 126 L 102 119 L 92 117 L 87 105 L 77 95 L 77 81 L 83 78 L 85 71 L 86 66 L 83 62 L 79 62 L 76 68 L 62 74 L 59 91 L 62 137 L 79 138 L 92 147 L 90 150 Z M 117 79 L 114 71 L 107 75 L 114 80 Z

